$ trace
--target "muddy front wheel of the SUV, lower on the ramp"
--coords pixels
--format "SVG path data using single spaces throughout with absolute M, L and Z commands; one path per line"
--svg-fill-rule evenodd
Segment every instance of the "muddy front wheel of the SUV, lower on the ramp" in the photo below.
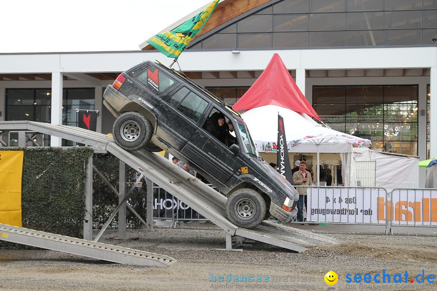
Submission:
M 232 193 L 226 202 L 226 216 L 239 227 L 258 226 L 264 220 L 266 212 L 266 201 L 263 196 L 252 189 L 239 189 Z

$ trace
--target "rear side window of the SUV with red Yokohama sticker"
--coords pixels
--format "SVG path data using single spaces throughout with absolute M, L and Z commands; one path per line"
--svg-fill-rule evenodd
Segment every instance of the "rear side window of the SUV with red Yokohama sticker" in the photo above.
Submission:
M 130 73 L 132 77 L 156 94 L 161 94 L 175 81 L 155 66 L 140 67 Z

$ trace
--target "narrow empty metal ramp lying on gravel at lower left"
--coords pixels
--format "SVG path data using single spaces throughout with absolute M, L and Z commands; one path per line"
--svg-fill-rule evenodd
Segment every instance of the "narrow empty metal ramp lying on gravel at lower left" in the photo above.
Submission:
M 3 224 L 0 224 L 0 240 L 121 264 L 168 267 L 176 261 L 167 256 L 131 248 L 86 241 L 49 232 Z

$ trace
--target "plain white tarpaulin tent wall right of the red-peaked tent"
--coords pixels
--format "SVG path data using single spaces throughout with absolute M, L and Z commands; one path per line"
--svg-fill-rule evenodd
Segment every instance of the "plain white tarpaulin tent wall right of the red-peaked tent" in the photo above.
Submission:
M 419 157 L 353 148 L 357 162 L 376 161 L 376 187 L 391 191 L 395 188 L 419 188 Z

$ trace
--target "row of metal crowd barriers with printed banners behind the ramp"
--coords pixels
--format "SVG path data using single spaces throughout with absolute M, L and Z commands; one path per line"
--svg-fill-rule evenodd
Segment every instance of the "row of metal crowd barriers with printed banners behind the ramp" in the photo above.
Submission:
M 307 193 L 306 223 L 385 226 L 386 234 L 393 234 L 393 226 L 437 226 L 437 189 L 294 187 Z M 174 227 L 180 221 L 206 220 L 158 186 L 153 189 L 153 219 L 172 220 Z

